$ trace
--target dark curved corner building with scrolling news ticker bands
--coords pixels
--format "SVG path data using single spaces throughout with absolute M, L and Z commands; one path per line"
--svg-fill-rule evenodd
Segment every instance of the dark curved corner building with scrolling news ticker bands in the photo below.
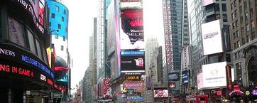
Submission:
M 54 73 L 48 5 L 43 0 L 0 1 L 1 103 L 48 102 Z

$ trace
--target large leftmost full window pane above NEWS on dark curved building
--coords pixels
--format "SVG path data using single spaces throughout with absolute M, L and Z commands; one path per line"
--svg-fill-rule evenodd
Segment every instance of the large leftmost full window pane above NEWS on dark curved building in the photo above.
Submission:
M 24 28 L 21 23 L 8 17 L 9 40 L 25 47 Z

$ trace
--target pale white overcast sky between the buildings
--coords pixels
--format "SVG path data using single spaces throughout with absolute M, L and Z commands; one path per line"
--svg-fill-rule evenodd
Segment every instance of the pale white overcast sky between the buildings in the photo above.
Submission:
M 68 48 L 73 60 L 71 88 L 84 77 L 89 66 L 89 36 L 94 31 L 94 17 L 97 17 L 99 0 L 66 0 L 69 9 Z M 143 22 L 145 38 L 156 37 L 163 41 L 162 0 L 143 0 Z M 161 42 L 160 42 L 160 45 Z M 75 90 L 73 90 L 75 92 Z

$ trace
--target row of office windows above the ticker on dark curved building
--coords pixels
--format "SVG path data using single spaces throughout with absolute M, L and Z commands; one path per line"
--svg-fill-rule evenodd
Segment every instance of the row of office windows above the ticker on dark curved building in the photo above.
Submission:
M 17 45 L 23 50 L 29 50 L 34 55 L 38 56 L 45 64 L 48 64 L 48 58 L 46 53 L 46 48 L 43 43 L 40 42 L 39 38 L 31 31 L 28 26 L 24 23 L 21 23 L 19 20 L 7 16 L 7 37 L 3 37 L 3 32 L 0 31 L 0 38 L 3 40 L 9 40 L 13 45 Z M 1 13 L 0 13 L 0 24 L 1 22 Z M 0 25 L 0 30 L 1 30 Z

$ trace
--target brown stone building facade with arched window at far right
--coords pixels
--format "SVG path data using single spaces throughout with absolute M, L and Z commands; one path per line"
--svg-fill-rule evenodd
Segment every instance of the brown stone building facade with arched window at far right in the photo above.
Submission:
M 256 1 L 228 1 L 227 10 L 231 31 L 231 59 L 234 80 L 244 87 L 256 82 Z

